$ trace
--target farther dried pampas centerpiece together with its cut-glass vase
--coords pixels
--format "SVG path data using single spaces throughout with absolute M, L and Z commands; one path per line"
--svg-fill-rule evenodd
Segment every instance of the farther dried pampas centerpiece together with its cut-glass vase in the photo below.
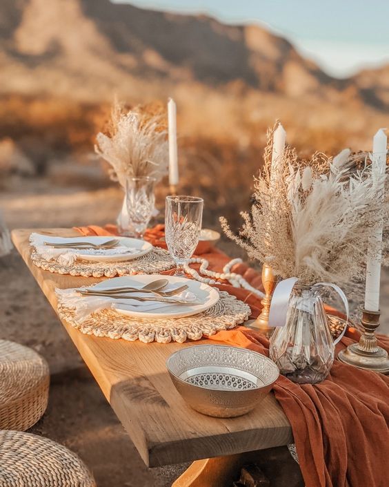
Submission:
M 152 104 L 127 111 L 115 102 L 111 120 L 106 131 L 97 134 L 94 149 L 112 166 L 112 180 L 118 181 L 126 191 L 118 218 L 119 231 L 137 233 L 134 222 L 141 220 L 144 224 L 150 220 L 154 207 L 150 184 L 159 182 L 168 173 L 164 109 Z

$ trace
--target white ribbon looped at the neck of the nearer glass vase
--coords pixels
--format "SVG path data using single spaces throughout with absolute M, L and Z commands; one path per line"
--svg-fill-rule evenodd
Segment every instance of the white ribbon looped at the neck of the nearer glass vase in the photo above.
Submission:
M 272 295 L 272 302 L 270 304 L 270 311 L 269 311 L 269 326 L 270 327 L 280 327 L 285 326 L 286 324 L 286 315 L 288 314 L 288 306 L 290 295 L 292 294 L 292 289 L 297 283 L 297 277 L 290 277 L 288 279 L 281 280 L 277 286 L 275 287 L 275 291 Z M 334 341 L 334 345 L 336 345 L 341 338 L 346 333 L 346 328 L 348 324 L 348 316 L 349 316 L 349 309 L 348 309 L 348 300 L 346 298 L 346 294 L 343 293 L 341 288 L 333 283 L 317 283 L 314 284 L 312 287 L 331 287 L 334 289 L 337 294 L 341 297 L 343 305 L 346 309 L 346 325 L 343 327 L 341 334 L 338 338 Z

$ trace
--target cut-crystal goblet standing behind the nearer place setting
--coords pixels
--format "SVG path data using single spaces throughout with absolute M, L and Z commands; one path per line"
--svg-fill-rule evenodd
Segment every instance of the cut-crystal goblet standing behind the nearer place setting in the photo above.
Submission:
M 183 265 L 199 243 L 203 199 L 194 196 L 167 196 L 165 238 L 177 268 L 174 276 L 184 276 Z

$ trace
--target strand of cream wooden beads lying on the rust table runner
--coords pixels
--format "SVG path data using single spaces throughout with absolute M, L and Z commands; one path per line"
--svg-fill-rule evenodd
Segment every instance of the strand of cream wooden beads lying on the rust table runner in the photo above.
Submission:
M 186 274 L 189 274 L 190 276 L 192 276 L 192 278 L 198 280 L 199 283 L 213 285 L 217 283 L 217 279 L 227 280 L 228 283 L 230 283 L 232 286 L 243 287 L 243 289 L 246 289 L 247 291 L 256 294 L 260 298 L 263 298 L 265 296 L 263 292 L 259 291 L 259 289 L 255 287 L 252 287 L 247 282 L 247 280 L 243 278 L 243 276 L 241 276 L 240 274 L 237 274 L 236 272 L 231 272 L 232 267 L 235 264 L 240 264 L 241 262 L 242 260 L 240 258 L 232 259 L 223 267 L 223 272 L 215 272 L 208 269 L 208 260 L 200 257 L 193 257 L 187 264 L 183 266 L 183 269 L 184 271 L 186 271 Z M 192 267 L 189 267 L 190 264 L 200 264 L 200 274 L 195 269 L 192 269 Z M 201 276 L 201 274 L 207 277 L 203 277 Z

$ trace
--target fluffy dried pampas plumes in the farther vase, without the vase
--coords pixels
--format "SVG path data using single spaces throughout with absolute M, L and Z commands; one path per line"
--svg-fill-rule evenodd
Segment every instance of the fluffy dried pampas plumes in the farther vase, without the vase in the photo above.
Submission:
M 166 114 L 159 106 L 137 106 L 130 111 L 118 102 L 112 107 L 106 133 L 97 134 L 94 150 L 111 166 L 111 178 L 126 187 L 127 178 L 168 173 Z

